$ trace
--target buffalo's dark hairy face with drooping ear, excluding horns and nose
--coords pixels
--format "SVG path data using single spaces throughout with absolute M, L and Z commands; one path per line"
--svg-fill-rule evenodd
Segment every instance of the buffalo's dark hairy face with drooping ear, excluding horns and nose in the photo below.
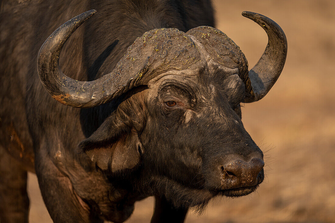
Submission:
M 263 159 L 241 121 L 245 85 L 237 69 L 216 65 L 210 70 L 214 73 L 204 67 L 160 75 L 122 102 L 80 148 L 114 177 L 132 175 L 129 169 L 136 169 L 134 183 L 140 190 L 163 194 L 176 207 L 201 208 L 216 195 L 250 194 L 263 181 L 263 170 L 253 182 L 237 188 L 222 177 L 221 170 L 237 158 Z M 169 101 L 176 104 L 169 106 Z M 121 129 L 122 140 L 111 134 L 113 128 Z M 130 149 L 120 152 L 115 144 Z M 107 155 L 101 145 L 107 146 Z

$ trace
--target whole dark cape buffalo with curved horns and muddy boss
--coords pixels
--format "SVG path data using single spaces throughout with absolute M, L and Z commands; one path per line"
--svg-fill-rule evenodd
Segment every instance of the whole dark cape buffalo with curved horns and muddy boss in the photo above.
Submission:
M 1 223 L 27 221 L 27 171 L 55 222 L 123 222 L 148 196 L 152 222 L 183 222 L 263 181 L 240 103 L 263 98 L 283 69 L 274 21 L 242 13 L 269 38 L 248 71 L 209 0 L 0 5 Z

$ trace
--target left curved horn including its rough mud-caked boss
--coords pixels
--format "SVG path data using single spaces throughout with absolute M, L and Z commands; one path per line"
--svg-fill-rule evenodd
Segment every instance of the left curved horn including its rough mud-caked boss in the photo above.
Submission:
M 153 29 L 128 47 L 111 73 L 93 81 L 74 80 L 61 71 L 59 54 L 71 34 L 94 13 L 95 10 L 90 10 L 70 19 L 40 49 L 37 60 L 40 80 L 49 94 L 63 104 L 83 108 L 101 105 L 136 86 L 147 85 L 160 73 L 195 69 L 201 60 L 186 33 L 175 28 Z

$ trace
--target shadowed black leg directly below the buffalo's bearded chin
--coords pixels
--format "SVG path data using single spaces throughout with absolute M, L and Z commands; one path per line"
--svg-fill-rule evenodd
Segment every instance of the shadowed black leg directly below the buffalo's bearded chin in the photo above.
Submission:
M 175 208 L 164 197 L 155 197 L 155 210 L 151 223 L 184 222 L 188 209 Z

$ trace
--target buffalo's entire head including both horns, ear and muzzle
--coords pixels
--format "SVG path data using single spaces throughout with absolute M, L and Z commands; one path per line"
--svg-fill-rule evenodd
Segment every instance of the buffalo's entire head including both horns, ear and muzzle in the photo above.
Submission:
M 182 32 L 145 32 L 114 70 L 94 81 L 73 80 L 59 68 L 60 51 L 94 10 L 59 27 L 41 47 L 38 72 L 46 90 L 74 107 L 126 99 L 79 150 L 115 177 L 134 173 L 145 193 L 176 206 L 206 204 L 216 195 L 242 196 L 264 179 L 263 153 L 241 121 L 241 102 L 264 97 L 278 79 L 287 42 L 271 19 L 261 25 L 269 42 L 256 66 L 223 32 L 200 26 Z

